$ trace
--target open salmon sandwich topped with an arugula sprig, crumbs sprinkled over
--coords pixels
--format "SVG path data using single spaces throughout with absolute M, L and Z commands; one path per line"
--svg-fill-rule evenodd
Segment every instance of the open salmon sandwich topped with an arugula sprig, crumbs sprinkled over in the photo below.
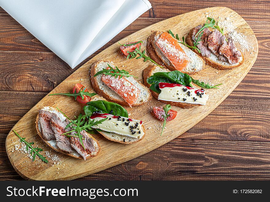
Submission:
M 152 98 L 148 88 L 128 71 L 118 69 L 113 62 L 96 61 L 91 66 L 90 77 L 99 95 L 118 104 L 133 107 L 143 105 Z

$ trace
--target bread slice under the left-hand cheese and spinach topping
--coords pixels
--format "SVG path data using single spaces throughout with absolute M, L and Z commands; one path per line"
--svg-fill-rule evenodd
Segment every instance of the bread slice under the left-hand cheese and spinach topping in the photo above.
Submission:
M 105 99 L 103 97 L 97 96 L 97 97 L 94 97 L 91 101 L 96 101 L 96 100 L 105 100 Z M 129 117 L 129 118 L 131 118 L 131 117 Z M 123 144 L 132 144 L 132 143 L 141 141 L 145 137 L 144 125 L 142 125 L 142 129 L 144 131 L 144 135 L 141 137 L 141 139 L 126 137 L 126 136 L 122 136 L 122 135 L 119 135 L 116 133 L 108 133 L 108 132 L 103 132 L 103 131 L 98 131 L 98 133 L 102 134 L 104 137 L 106 137 L 110 141 L 120 142 Z

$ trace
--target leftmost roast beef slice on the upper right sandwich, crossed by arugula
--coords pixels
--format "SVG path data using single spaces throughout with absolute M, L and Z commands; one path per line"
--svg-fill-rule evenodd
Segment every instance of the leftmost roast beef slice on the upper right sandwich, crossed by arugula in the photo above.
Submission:
M 192 40 L 196 41 L 199 37 L 199 34 L 195 37 L 195 35 L 198 33 L 198 31 L 202 28 L 202 25 L 198 25 L 193 29 L 192 32 Z M 207 45 L 207 38 L 212 32 L 208 28 L 204 28 L 203 35 L 200 38 L 200 41 L 198 42 L 198 49 L 201 51 L 202 56 L 210 57 L 211 52 L 208 50 Z

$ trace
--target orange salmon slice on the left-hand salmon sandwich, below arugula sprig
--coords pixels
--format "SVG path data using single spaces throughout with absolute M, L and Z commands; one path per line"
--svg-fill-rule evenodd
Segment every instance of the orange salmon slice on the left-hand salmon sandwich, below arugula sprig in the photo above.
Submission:
M 107 69 L 110 69 L 108 67 Z M 127 80 L 125 77 L 120 78 L 111 75 L 103 74 L 101 80 L 115 93 L 122 97 L 130 107 L 137 101 L 140 89 L 138 89 L 133 83 Z

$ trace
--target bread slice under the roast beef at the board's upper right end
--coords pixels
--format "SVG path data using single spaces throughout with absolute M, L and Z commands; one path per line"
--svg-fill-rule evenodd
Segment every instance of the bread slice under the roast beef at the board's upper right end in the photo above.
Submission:
M 194 28 L 188 33 L 187 38 L 186 38 L 186 42 L 189 46 L 194 46 L 193 40 L 192 40 L 193 30 L 194 30 Z M 230 64 L 229 62 L 223 62 L 223 61 L 219 60 L 218 57 L 216 55 L 214 55 L 213 53 L 211 53 L 210 57 L 205 57 L 205 56 L 202 56 L 202 54 L 199 53 L 198 50 L 194 49 L 193 51 L 195 53 L 197 53 L 199 56 L 201 56 L 207 65 L 214 67 L 216 69 L 219 69 L 219 70 L 232 69 L 232 68 L 240 66 L 244 62 L 243 53 L 241 53 L 242 57 L 240 58 L 238 63 Z

